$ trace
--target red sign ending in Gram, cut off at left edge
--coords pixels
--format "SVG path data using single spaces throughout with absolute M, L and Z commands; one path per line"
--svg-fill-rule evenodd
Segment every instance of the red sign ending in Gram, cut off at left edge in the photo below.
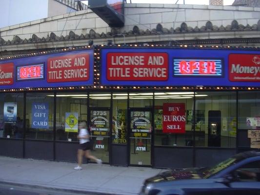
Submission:
M 0 64 L 0 85 L 12 85 L 14 83 L 14 63 Z

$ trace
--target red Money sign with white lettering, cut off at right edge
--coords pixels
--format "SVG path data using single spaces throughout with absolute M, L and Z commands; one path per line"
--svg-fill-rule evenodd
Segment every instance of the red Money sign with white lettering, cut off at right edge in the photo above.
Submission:
M 235 82 L 260 82 L 259 54 L 230 54 L 229 80 Z

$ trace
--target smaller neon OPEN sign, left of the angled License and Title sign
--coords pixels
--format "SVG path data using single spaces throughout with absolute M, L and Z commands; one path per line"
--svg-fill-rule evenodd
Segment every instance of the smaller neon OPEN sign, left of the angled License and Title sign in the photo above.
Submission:
M 17 80 L 32 80 L 44 78 L 44 64 L 17 67 Z

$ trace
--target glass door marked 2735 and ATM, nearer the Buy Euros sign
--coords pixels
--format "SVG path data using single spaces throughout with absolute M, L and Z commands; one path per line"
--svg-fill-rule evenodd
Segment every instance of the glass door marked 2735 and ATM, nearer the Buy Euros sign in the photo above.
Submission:
M 145 109 L 130 109 L 130 164 L 151 165 L 152 113 Z

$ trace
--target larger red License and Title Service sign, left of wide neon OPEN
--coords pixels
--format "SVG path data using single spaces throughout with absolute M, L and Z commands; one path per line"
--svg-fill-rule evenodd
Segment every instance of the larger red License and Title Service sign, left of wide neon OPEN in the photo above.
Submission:
M 108 80 L 168 80 L 168 54 L 153 52 L 108 53 Z

